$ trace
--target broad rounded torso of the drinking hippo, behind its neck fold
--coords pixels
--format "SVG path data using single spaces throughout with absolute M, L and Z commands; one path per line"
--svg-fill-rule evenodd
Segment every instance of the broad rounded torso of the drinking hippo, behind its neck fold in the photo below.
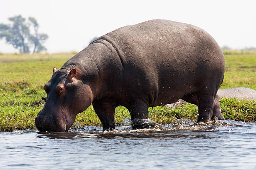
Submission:
M 217 92 L 225 60 L 215 40 L 194 25 L 149 20 L 114 30 L 93 43 L 111 44 L 122 71 L 125 97 L 147 99 L 148 105 L 176 102 L 189 92 L 215 82 Z M 175 93 L 173 93 L 175 91 Z

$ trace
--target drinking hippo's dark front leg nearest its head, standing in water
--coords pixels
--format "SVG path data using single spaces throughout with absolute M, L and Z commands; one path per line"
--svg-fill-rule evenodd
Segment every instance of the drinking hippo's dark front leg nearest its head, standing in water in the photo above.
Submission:
M 101 99 L 93 101 L 92 106 L 100 118 L 102 129 L 115 129 L 115 102 L 108 99 Z

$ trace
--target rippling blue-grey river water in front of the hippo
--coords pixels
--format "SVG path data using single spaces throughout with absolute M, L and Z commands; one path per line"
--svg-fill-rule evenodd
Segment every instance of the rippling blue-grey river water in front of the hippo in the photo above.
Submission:
M 255 170 L 256 123 L 0 133 L 0 169 Z

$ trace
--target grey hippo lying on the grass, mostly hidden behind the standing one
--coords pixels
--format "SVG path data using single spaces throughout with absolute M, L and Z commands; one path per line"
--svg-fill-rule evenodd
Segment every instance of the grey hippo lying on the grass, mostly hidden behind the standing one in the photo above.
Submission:
M 238 100 L 256 100 L 256 91 L 247 87 L 233 87 L 233 88 L 227 88 L 227 89 L 219 89 L 215 98 L 216 97 L 236 98 Z M 186 102 L 182 99 L 179 99 L 175 103 L 164 105 L 164 107 L 176 107 L 177 105 L 181 105 L 182 103 L 186 103 Z

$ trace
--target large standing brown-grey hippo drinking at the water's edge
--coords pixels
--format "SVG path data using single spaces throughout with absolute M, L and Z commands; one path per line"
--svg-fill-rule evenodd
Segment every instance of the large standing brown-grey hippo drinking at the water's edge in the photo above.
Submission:
M 197 122 L 222 119 L 215 95 L 224 70 L 222 50 L 201 28 L 169 20 L 124 26 L 54 67 L 35 125 L 39 131 L 67 131 L 92 104 L 103 130 L 115 129 L 119 105 L 129 110 L 133 128 L 145 128 L 148 107 L 179 98 L 198 106 Z

